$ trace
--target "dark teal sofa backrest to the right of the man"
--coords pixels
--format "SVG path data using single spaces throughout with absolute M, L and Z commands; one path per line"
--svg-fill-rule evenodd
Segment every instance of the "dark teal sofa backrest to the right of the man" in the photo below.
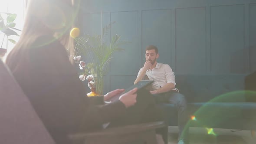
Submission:
M 188 102 L 244 102 L 245 74 L 175 75 L 180 93 Z

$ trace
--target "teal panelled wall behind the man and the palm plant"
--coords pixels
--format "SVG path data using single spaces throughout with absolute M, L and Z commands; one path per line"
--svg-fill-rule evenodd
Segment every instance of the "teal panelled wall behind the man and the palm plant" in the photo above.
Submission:
M 256 70 L 256 0 L 82 0 L 84 34 L 129 43 L 115 52 L 104 92 L 126 88 L 144 65 L 145 46 L 158 46 L 158 62 L 176 74 L 250 73 Z

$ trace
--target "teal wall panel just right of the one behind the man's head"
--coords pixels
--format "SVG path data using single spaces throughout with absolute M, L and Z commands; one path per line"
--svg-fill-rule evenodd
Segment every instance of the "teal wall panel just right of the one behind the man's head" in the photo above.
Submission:
M 176 9 L 176 72 L 206 73 L 206 10 Z

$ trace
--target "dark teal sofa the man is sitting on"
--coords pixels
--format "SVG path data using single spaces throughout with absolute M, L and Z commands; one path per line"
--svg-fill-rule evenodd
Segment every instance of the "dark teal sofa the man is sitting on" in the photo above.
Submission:
M 194 116 L 190 127 L 256 130 L 256 103 L 246 102 L 245 74 L 176 75 L 177 88 L 188 101 Z M 172 104 L 160 104 L 167 124 L 177 126 L 177 111 Z

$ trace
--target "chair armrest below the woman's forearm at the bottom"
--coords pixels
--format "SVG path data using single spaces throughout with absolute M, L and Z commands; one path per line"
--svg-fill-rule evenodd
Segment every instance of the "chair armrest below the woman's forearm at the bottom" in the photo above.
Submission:
M 73 140 L 84 139 L 85 137 L 95 137 L 95 136 L 120 136 L 131 133 L 138 133 L 141 131 L 152 130 L 156 128 L 165 127 L 164 121 L 157 121 L 151 123 L 135 124 L 135 125 L 126 125 L 116 128 L 106 128 L 103 130 L 92 131 L 88 133 L 78 133 L 78 134 L 69 134 L 69 138 Z

